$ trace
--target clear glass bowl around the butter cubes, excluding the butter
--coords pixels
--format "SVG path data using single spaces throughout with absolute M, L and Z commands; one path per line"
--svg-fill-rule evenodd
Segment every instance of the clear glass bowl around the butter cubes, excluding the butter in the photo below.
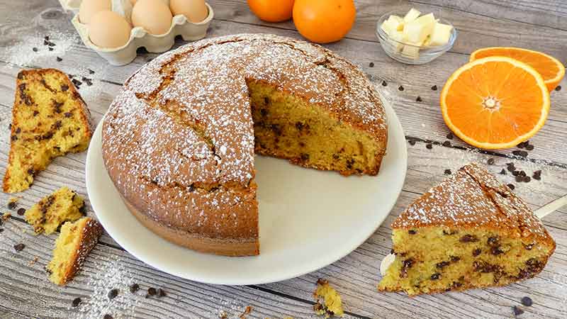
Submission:
M 408 65 L 423 65 L 427 62 L 435 60 L 437 57 L 442 55 L 444 52 L 449 51 L 449 49 L 453 47 L 457 35 L 456 29 L 449 21 L 444 20 L 443 18 L 438 19 L 438 21 L 440 23 L 448 24 L 449 26 L 453 27 L 451 30 L 451 36 L 449 37 L 449 42 L 444 45 L 431 47 L 425 45 L 419 46 L 394 40 L 390 37 L 390 35 L 388 35 L 388 33 L 386 33 L 386 31 L 382 30 L 382 28 L 380 27 L 382 23 L 393 14 L 401 17 L 405 16 L 405 12 L 392 11 L 381 16 L 376 23 L 376 35 L 380 40 L 380 44 L 382 45 L 382 48 L 384 49 L 386 54 L 393 60 L 403 62 Z M 403 50 L 404 46 L 407 46 L 405 50 Z M 410 55 L 408 54 L 408 52 L 418 52 L 418 54 Z

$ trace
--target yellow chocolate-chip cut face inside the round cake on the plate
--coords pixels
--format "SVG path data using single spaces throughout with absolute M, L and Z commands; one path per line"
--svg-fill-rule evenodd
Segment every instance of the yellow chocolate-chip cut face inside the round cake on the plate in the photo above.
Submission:
M 255 150 L 341 174 L 376 174 L 383 149 L 363 130 L 264 82 L 247 81 Z

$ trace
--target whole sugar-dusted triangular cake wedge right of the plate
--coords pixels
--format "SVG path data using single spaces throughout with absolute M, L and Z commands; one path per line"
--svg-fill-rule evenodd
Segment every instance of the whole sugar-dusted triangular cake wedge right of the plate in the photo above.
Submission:
M 531 278 L 555 250 L 527 204 L 475 163 L 418 198 L 392 229 L 395 260 L 378 289 L 410 296 Z

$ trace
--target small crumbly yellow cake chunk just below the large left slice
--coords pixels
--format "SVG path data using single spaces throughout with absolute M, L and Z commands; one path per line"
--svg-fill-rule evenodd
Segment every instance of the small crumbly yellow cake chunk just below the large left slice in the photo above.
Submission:
M 75 221 L 83 216 L 83 198 L 67 187 L 45 196 L 24 213 L 26 221 L 33 226 L 35 233 L 46 235 L 55 232 L 62 223 Z

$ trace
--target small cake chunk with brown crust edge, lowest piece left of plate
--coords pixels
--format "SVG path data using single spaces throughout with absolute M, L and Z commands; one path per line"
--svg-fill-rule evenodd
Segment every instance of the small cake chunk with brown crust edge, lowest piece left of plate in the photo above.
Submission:
M 90 217 L 81 218 L 74 223 L 64 223 L 55 240 L 53 258 L 46 267 L 50 273 L 49 280 L 64 285 L 73 279 L 86 256 L 99 241 L 102 231 L 101 224 Z

